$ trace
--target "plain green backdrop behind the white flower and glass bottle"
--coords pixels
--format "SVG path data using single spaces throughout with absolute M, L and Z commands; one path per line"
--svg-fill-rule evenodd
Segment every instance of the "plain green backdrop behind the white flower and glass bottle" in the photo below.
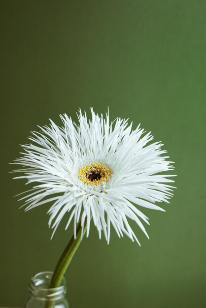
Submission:
M 53 270 L 70 231 L 50 241 L 48 205 L 13 195 L 19 144 L 78 108 L 130 118 L 163 140 L 176 178 L 166 213 L 143 209 L 141 247 L 93 227 L 66 278 L 71 308 L 206 307 L 206 1 L 0 1 L 0 305 L 23 307 L 32 275 Z

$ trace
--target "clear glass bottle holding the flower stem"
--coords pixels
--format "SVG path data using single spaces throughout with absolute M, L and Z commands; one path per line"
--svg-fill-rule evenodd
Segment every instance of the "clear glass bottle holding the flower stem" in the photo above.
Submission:
M 63 277 L 58 288 L 49 289 L 52 272 L 41 272 L 32 277 L 29 290 L 30 298 L 25 308 L 69 308 L 66 299 L 66 279 Z

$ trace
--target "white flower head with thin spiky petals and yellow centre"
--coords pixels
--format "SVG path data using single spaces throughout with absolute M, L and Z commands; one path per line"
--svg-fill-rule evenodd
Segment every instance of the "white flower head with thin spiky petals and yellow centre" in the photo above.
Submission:
M 109 243 L 110 223 L 119 237 L 126 234 L 139 244 L 129 225 L 134 220 L 148 237 L 140 220 L 148 218 L 140 207 L 164 211 L 156 202 L 168 202 L 172 196 L 172 170 L 170 161 L 164 156 L 160 142 L 151 143 L 153 136 L 138 125 L 132 130 L 132 123 L 117 118 L 109 123 L 91 109 L 92 119 L 79 111 L 78 124 L 66 114 L 60 116 L 63 126 L 51 120 L 49 126 L 32 132 L 29 139 L 33 144 L 23 146 L 23 157 L 15 164 L 22 165 L 23 176 L 34 184 L 27 191 L 25 211 L 52 202 L 49 209 L 49 226 L 57 229 L 63 216 L 68 215 L 68 228 L 73 219 L 74 236 L 76 226 L 84 225 L 87 217 L 87 236 L 90 217 Z M 37 182 L 37 183 L 36 183 Z M 135 205 L 137 206 L 135 206 Z M 53 232 L 53 234 L 54 234 Z

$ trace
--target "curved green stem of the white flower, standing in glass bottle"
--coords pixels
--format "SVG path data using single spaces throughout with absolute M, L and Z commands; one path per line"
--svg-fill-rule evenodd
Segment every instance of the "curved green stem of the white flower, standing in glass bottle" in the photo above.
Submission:
M 57 288 L 60 286 L 60 283 L 62 281 L 62 278 L 69 266 L 69 263 L 71 262 L 71 259 L 76 252 L 79 244 L 81 243 L 81 240 L 86 232 L 87 229 L 87 219 L 85 219 L 84 226 L 81 227 L 81 222 L 79 223 L 77 229 L 76 229 L 76 238 L 74 239 L 74 235 L 70 239 L 67 247 L 63 251 L 57 266 L 54 270 L 53 276 L 50 281 L 49 289 Z M 46 308 L 52 308 L 54 302 L 49 301 L 49 303 L 46 305 Z

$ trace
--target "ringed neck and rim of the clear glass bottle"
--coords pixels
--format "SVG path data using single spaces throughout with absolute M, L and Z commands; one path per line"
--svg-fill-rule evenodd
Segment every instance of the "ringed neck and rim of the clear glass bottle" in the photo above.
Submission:
M 67 292 L 66 279 L 63 277 L 59 287 L 50 289 L 49 284 L 52 274 L 52 272 L 41 272 L 32 277 L 29 285 L 29 290 L 32 296 L 42 300 L 53 301 L 64 298 Z

